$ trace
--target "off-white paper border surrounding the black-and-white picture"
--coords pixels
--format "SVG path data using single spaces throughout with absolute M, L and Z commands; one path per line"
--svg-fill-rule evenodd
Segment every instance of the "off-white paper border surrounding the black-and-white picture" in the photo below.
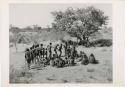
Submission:
M 10 3 L 110 3 L 113 6 L 113 83 L 112 84 L 9 84 L 9 4 Z M 123 0 L 1 0 L 0 58 L 2 87 L 122 87 L 125 58 L 125 2 Z

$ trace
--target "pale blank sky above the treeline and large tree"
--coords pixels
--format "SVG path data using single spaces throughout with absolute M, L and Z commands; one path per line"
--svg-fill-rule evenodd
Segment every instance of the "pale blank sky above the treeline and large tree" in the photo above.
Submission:
M 51 26 L 54 18 L 53 11 L 65 10 L 68 7 L 85 8 L 94 6 L 102 10 L 109 16 L 108 26 L 112 24 L 112 5 L 111 4 L 10 4 L 9 5 L 9 24 L 23 28 L 31 25 L 41 27 Z

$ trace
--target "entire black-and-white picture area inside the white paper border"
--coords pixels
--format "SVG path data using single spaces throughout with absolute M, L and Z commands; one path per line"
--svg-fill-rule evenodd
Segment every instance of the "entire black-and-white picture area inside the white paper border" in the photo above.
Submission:
M 112 4 L 9 4 L 9 82 L 112 83 Z

